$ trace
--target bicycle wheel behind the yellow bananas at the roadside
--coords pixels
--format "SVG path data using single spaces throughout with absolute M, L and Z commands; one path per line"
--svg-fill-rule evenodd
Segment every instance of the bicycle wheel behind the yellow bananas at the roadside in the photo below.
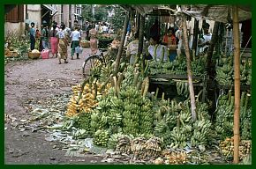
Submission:
M 89 56 L 83 63 L 83 76 L 88 78 L 94 74 L 95 70 L 101 70 L 102 63 L 102 58 L 99 55 Z

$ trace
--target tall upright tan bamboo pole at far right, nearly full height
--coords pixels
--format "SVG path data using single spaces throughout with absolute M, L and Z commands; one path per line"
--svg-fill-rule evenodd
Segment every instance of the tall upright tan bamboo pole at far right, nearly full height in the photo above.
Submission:
M 235 66 L 235 112 L 234 112 L 234 164 L 239 162 L 239 127 L 240 127 L 240 40 L 238 8 L 233 8 L 234 66 Z

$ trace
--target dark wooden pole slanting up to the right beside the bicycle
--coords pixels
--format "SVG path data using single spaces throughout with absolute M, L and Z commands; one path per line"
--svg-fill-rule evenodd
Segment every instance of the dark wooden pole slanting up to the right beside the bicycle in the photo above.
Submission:
M 123 29 L 123 34 L 122 34 L 122 38 L 121 38 L 121 41 L 120 41 L 120 47 L 118 48 L 118 52 L 117 52 L 117 59 L 116 59 L 116 64 L 115 64 L 114 76 L 117 76 L 117 73 L 118 73 L 118 70 L 119 70 L 118 68 L 119 68 L 121 56 L 122 56 L 122 53 L 123 53 L 124 40 L 125 40 L 125 36 L 126 36 L 126 33 L 127 33 L 127 26 L 128 26 L 129 19 L 130 19 L 130 11 L 128 11 L 126 13 L 126 17 L 125 17 L 125 20 L 124 20 L 124 29 Z

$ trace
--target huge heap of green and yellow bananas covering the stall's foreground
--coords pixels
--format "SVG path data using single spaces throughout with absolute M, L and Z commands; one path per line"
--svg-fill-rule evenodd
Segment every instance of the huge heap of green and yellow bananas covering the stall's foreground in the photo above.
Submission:
M 162 99 L 158 99 L 158 90 L 154 94 L 147 92 L 148 67 L 159 64 L 146 63 L 146 69 L 142 70 L 139 64 L 121 62 L 117 76 L 112 74 L 115 62 L 99 64 L 88 82 L 73 86 L 66 115 L 78 117 L 79 129 L 83 129 L 85 136 L 93 137 L 94 145 L 120 155 L 131 155 L 136 160 L 154 159 L 154 164 L 186 164 L 196 161 L 192 159 L 194 155 L 178 150 L 207 148 L 215 139 L 222 141 L 232 136 L 234 96 L 231 92 L 219 97 L 214 122 L 208 114 L 207 103 L 197 99 L 197 119 L 192 121 L 189 99 L 184 102 L 164 99 L 164 93 Z M 170 64 L 167 62 L 164 66 L 168 68 Z M 188 94 L 187 87 L 186 82 L 177 81 L 178 94 Z M 250 96 L 245 92 L 241 95 L 241 138 L 245 140 L 251 139 Z M 231 149 L 225 148 L 226 144 L 220 144 L 223 156 L 230 155 L 227 150 Z M 242 149 L 241 152 L 249 153 Z M 208 157 L 200 159 L 207 161 Z

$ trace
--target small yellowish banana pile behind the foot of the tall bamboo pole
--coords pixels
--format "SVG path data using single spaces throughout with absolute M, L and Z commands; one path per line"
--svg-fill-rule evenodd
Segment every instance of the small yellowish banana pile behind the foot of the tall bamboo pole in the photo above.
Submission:
M 227 137 L 220 143 L 222 155 L 232 157 L 234 152 L 234 138 Z M 241 140 L 239 143 L 239 159 L 243 160 L 248 154 L 252 153 L 251 140 Z

